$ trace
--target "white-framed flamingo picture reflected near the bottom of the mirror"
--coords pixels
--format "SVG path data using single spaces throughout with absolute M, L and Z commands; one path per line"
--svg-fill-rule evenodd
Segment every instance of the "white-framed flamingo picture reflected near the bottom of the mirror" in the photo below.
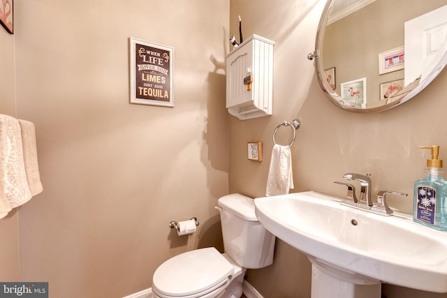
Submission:
M 341 103 L 346 107 L 366 108 L 366 77 L 340 84 Z

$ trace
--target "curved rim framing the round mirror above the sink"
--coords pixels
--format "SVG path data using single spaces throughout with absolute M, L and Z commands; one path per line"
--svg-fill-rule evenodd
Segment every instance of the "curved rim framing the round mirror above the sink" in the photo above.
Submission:
M 321 89 L 323 89 L 323 92 L 325 96 L 327 96 L 330 99 L 330 102 L 336 105 L 337 107 L 341 108 L 342 110 L 348 111 L 348 112 L 356 112 L 356 113 L 374 113 L 374 112 L 383 112 L 386 110 L 390 110 L 393 107 L 397 107 L 398 105 L 402 105 L 402 103 L 406 103 L 406 101 L 410 100 L 417 94 L 419 94 L 420 91 L 423 91 L 425 87 L 427 87 L 438 75 L 441 73 L 441 71 L 444 69 L 444 67 L 447 65 L 447 51 L 444 53 L 444 56 L 440 59 L 437 66 L 433 68 L 433 70 L 430 72 L 427 77 L 425 77 L 425 80 L 420 81 L 418 86 L 415 87 L 413 90 L 409 91 L 406 94 L 403 94 L 401 98 L 397 98 L 393 100 L 392 103 L 388 103 L 386 105 L 381 105 L 379 107 L 370 107 L 370 108 L 355 108 L 355 107 L 348 107 L 346 105 L 342 105 L 339 100 L 336 98 L 341 98 L 335 91 L 332 91 L 332 88 L 329 86 L 328 82 L 323 79 L 322 74 L 324 73 L 323 69 L 323 61 L 321 59 L 321 44 L 322 39 L 324 35 L 324 30 L 326 23 L 328 22 L 329 18 L 329 8 L 332 5 L 332 3 L 336 0 L 328 0 L 325 4 L 325 7 L 323 9 L 323 13 L 321 13 L 320 22 L 318 23 L 318 29 L 316 31 L 316 38 L 315 38 L 315 50 L 314 54 L 309 54 L 308 59 L 315 59 L 315 71 L 316 76 L 318 77 L 318 82 L 321 86 Z M 337 0 L 339 1 L 339 0 Z M 446 41 L 447 42 L 447 41 Z M 331 91 L 328 91 L 331 90 Z

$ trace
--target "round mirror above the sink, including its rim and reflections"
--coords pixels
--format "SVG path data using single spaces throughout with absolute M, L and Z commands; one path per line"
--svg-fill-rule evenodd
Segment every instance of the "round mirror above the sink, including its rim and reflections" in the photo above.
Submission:
M 332 103 L 381 112 L 423 90 L 447 64 L 447 0 L 328 0 L 314 52 Z

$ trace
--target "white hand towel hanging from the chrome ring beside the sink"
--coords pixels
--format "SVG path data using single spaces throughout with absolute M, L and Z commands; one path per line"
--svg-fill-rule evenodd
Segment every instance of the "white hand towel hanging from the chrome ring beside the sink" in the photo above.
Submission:
M 265 195 L 286 195 L 289 189 L 293 189 L 291 148 L 275 144 L 272 149 Z

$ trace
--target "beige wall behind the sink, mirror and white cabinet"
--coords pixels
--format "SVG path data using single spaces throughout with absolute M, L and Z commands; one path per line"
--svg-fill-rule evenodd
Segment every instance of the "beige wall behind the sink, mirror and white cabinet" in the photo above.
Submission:
M 411 213 L 413 181 L 424 176 L 427 158 L 418 146 L 439 144 L 441 158 L 447 158 L 447 72 L 394 110 L 379 114 L 340 110 L 325 98 L 313 62 L 307 60 L 314 50 L 324 3 L 279 0 L 273 5 L 261 0 L 255 6 L 251 1 L 230 1 L 230 33 L 237 34 L 237 15 L 241 15 L 244 36 L 256 33 L 276 41 L 273 115 L 247 121 L 230 117 L 230 191 L 264 195 L 274 128 L 298 117 L 302 126 L 292 148 L 294 191 L 343 196 L 346 190 L 333 181 L 345 172 L 369 172 L 372 193 L 383 189 L 409 193 L 406 199 L 390 197 L 389 204 Z M 290 137 L 290 131 L 285 129 L 284 135 Z M 250 140 L 263 142 L 263 162 L 247 161 L 244 148 Z M 266 298 L 310 297 L 309 262 L 291 246 L 278 242 L 274 264 L 250 270 L 250 283 Z M 390 285 L 384 285 L 383 292 L 388 298 L 445 297 Z

